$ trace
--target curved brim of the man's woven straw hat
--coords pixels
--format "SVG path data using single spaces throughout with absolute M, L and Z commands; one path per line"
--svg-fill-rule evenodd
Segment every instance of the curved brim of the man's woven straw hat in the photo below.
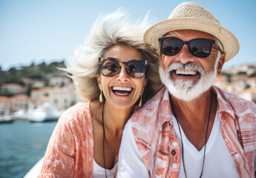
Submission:
M 158 39 L 166 33 L 174 30 L 200 30 L 215 36 L 223 44 L 223 51 L 226 54 L 226 62 L 237 55 L 239 51 L 239 42 L 232 32 L 218 23 L 211 22 L 208 19 L 198 18 L 177 18 L 167 19 L 150 27 L 144 34 L 145 44 L 159 49 Z

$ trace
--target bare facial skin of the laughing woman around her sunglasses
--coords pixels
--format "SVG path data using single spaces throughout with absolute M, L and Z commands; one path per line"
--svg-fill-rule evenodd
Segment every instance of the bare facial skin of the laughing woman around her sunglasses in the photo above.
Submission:
M 123 46 L 111 47 L 104 53 L 104 57 L 114 57 L 119 59 L 120 62 L 128 62 L 131 59 L 142 58 L 137 50 Z M 119 74 L 116 76 L 108 77 L 99 75 L 97 80 L 99 89 L 103 90 L 106 101 L 115 108 L 131 108 L 139 99 L 147 83 L 145 76 L 139 79 L 128 76 L 125 65 L 122 65 Z M 121 96 L 114 93 L 112 90 L 113 87 L 132 88 L 132 90 L 128 95 Z

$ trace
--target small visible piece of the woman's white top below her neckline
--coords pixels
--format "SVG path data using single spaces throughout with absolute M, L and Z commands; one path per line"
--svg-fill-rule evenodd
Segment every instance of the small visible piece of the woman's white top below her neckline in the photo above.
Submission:
M 107 177 L 114 178 L 116 173 L 117 163 L 111 170 L 106 169 Z M 102 168 L 97 162 L 93 159 L 93 178 L 104 178 L 105 177 L 105 168 Z

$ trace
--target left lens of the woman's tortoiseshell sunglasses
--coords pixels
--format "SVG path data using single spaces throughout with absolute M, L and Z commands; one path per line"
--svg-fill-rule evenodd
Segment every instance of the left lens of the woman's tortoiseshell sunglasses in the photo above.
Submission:
M 102 62 L 101 71 L 103 76 L 116 76 L 119 70 L 119 62 L 116 59 L 105 59 Z

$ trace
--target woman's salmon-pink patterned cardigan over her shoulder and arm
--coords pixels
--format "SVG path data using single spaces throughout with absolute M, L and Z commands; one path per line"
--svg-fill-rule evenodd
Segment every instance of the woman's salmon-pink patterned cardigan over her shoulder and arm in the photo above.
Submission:
M 63 113 L 50 137 L 39 177 L 93 177 L 90 101 Z

